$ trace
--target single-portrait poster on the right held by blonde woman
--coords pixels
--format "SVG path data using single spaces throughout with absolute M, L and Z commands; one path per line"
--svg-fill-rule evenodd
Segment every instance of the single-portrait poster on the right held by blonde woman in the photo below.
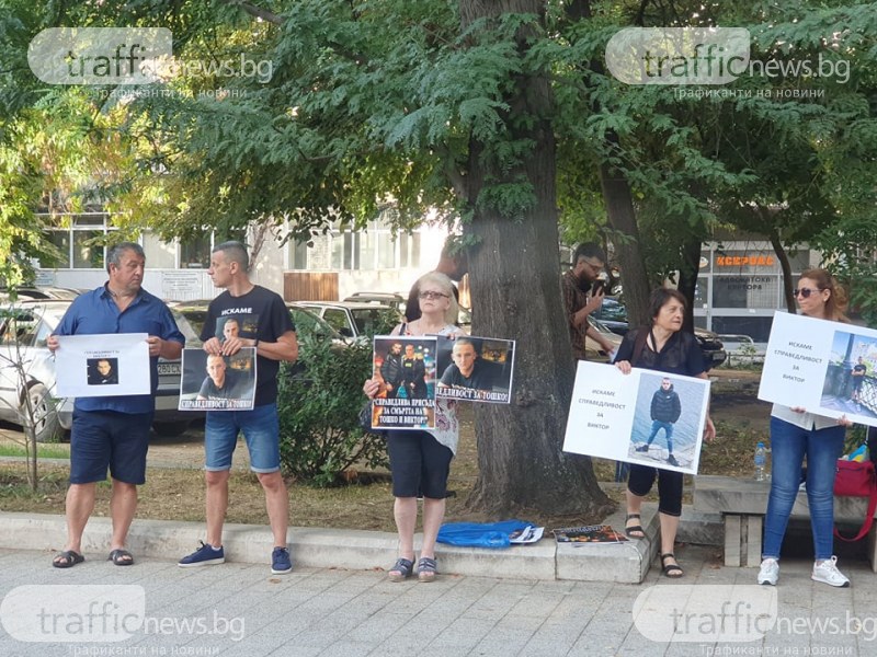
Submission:
M 508 404 L 514 371 L 514 341 L 438 337 L 436 399 Z

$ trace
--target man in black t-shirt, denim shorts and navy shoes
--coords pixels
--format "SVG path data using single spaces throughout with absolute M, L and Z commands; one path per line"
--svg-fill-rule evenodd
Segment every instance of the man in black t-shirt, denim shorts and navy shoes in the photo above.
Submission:
M 269 522 L 274 534 L 271 572 L 293 569 L 286 532 L 289 498 L 281 475 L 280 426 L 277 419 L 277 372 L 282 360 L 298 357 L 295 325 L 283 299 L 250 281 L 249 256 L 240 242 L 225 242 L 210 255 L 207 274 L 225 292 L 210 302 L 201 334 L 210 356 L 231 356 L 242 347 L 257 355 L 255 401 L 252 411 L 208 411 L 204 430 L 207 483 L 207 540 L 180 560 L 182 567 L 225 562 L 223 525 L 228 509 L 228 479 L 231 456 L 242 431 L 250 452 L 250 469 L 265 492 Z M 225 328 L 230 318 L 237 331 Z

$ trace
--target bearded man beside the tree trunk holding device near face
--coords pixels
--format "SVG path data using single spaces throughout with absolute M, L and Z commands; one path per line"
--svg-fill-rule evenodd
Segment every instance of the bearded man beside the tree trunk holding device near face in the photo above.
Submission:
M 600 274 L 606 266 L 606 254 L 593 242 L 579 244 L 572 255 L 572 268 L 563 274 L 563 309 L 569 320 L 569 335 L 572 354 L 577 360 L 584 360 L 584 337 L 590 336 L 600 348 L 611 354 L 613 345 L 588 323 L 588 315 L 603 304 L 603 281 Z

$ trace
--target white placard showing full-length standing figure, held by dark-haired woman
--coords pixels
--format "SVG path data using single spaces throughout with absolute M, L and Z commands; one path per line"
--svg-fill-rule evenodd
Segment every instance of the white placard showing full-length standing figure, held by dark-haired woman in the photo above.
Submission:
M 676 402 L 679 414 L 669 422 L 663 413 Z M 696 474 L 708 406 L 706 379 L 639 368 L 623 374 L 615 366 L 580 360 L 563 451 Z

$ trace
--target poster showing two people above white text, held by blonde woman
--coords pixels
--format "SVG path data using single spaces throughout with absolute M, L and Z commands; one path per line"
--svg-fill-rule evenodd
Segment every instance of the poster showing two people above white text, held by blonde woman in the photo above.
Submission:
M 373 377 L 380 391 L 372 404 L 372 427 L 435 427 L 435 337 L 375 336 Z

